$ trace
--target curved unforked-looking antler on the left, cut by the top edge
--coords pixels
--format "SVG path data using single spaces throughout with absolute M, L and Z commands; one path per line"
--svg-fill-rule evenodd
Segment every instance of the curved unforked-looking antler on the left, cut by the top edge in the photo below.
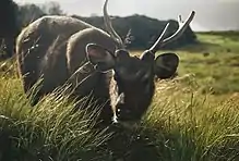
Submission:
M 108 0 L 106 0 L 104 4 L 104 21 L 105 21 L 106 29 L 109 32 L 109 35 L 111 36 L 111 38 L 119 45 L 119 48 L 124 48 L 124 44 L 122 39 L 112 28 L 112 24 L 111 24 L 110 17 L 107 12 L 107 4 L 108 4 Z

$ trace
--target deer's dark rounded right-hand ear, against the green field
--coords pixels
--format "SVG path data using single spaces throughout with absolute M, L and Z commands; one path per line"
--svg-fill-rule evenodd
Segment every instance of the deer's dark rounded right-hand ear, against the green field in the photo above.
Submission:
M 176 53 L 163 53 L 155 59 L 154 72 L 159 78 L 171 77 L 178 67 L 179 58 Z

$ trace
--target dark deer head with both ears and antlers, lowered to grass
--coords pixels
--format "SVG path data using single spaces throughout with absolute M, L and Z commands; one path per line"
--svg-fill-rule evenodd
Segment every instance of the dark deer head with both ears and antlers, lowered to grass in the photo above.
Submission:
M 107 13 L 107 3 L 108 0 L 104 4 L 105 25 L 110 37 L 117 44 L 117 50 L 113 53 L 105 47 L 88 44 L 86 46 L 87 59 L 100 72 L 106 73 L 112 70 L 109 92 L 113 121 L 136 121 L 142 117 L 151 104 L 155 89 L 155 75 L 159 78 L 169 78 L 175 74 L 179 64 L 176 53 L 164 53 L 156 57 L 156 51 L 180 37 L 195 12 L 192 11 L 184 23 L 180 18 L 178 30 L 170 37 L 164 38 L 169 26 L 167 24 L 156 42 L 138 58 L 130 55 L 122 39 L 112 28 Z

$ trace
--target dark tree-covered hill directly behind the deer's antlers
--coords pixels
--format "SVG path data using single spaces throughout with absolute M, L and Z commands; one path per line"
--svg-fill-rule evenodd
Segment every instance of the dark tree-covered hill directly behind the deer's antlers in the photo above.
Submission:
M 96 27 L 105 29 L 104 20 L 101 16 L 91 16 L 81 17 L 77 15 L 72 15 L 73 17 L 83 20 Z M 145 15 L 131 15 L 127 17 L 116 16 L 112 18 L 112 26 L 119 33 L 122 39 L 126 39 L 129 30 L 132 36 L 131 44 L 128 48 L 131 49 L 145 49 L 150 48 L 158 38 L 163 32 L 165 25 L 170 22 L 169 29 L 166 37 L 172 35 L 179 27 L 179 24 L 175 20 L 169 21 L 158 21 L 156 18 L 151 18 Z M 196 36 L 189 26 L 183 35 L 175 42 L 165 46 L 165 49 L 176 49 L 189 44 L 196 42 Z

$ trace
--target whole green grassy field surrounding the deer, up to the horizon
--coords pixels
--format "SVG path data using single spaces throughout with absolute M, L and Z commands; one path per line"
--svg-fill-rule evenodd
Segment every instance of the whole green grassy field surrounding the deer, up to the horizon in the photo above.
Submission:
M 97 111 L 73 112 L 53 95 L 31 108 L 15 61 L 2 61 L 0 160 L 239 160 L 239 33 L 198 37 L 200 45 L 174 51 L 179 76 L 156 82 L 151 109 L 130 129 L 93 129 Z

